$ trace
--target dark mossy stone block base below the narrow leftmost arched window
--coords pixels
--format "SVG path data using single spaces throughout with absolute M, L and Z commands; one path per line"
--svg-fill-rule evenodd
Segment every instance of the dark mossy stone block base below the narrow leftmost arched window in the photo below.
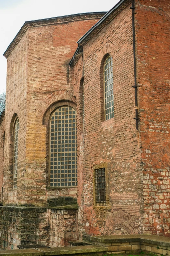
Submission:
M 16 249 L 17 245 L 49 242 L 46 208 L 0 207 L 0 249 Z

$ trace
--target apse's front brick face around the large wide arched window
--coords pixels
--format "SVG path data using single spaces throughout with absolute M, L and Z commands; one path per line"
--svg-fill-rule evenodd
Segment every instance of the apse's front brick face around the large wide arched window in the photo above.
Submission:
M 45 191 L 48 185 L 48 120 L 43 123 L 45 111 L 55 102 L 73 102 L 73 90 L 69 82 L 68 63 L 72 58 L 76 41 L 98 19 L 71 21 L 64 24 L 40 26 L 29 31 L 26 168 L 29 174 L 24 183 L 34 183 L 34 188 L 25 192 L 25 199 L 46 204 L 52 196 Z M 65 104 L 60 103 L 60 104 Z M 70 104 L 73 104 L 70 103 Z M 49 117 L 49 116 L 48 116 Z M 34 146 L 33 146 L 34 145 Z M 33 173 L 37 177 L 33 176 Z M 38 191 L 36 193 L 35 191 Z M 48 193 L 48 195 L 47 195 Z M 57 189 L 54 196 L 77 196 L 77 189 Z

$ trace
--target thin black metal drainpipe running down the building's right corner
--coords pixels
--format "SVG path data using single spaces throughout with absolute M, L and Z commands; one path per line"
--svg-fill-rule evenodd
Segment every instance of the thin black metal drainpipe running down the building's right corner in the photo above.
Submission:
M 135 88 L 135 106 L 136 106 L 136 116 L 135 116 L 135 120 L 136 120 L 136 129 L 139 130 L 138 128 L 138 104 L 137 104 L 137 78 L 136 78 L 136 52 L 135 52 L 135 24 L 134 24 L 134 11 L 135 11 L 135 5 L 134 5 L 134 0 L 132 0 L 132 7 L 130 7 L 130 9 L 132 9 L 132 32 L 133 32 L 133 52 L 134 52 L 134 80 L 135 80 L 135 85 L 133 85 L 132 87 Z

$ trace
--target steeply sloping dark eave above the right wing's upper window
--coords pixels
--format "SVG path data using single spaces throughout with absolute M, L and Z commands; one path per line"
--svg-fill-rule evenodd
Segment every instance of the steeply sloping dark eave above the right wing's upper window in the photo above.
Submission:
M 131 0 L 120 0 L 112 9 L 110 9 L 94 26 L 92 26 L 86 34 L 84 34 L 77 43 L 83 45 L 87 43 L 94 35 L 96 35 L 101 28 L 106 26 L 115 16 L 117 16 L 122 9 L 129 5 Z

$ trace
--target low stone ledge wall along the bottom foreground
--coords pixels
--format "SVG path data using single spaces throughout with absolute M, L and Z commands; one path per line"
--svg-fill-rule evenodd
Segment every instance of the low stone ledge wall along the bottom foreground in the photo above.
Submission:
M 69 255 L 72 256 L 102 256 L 109 254 L 129 254 L 145 251 L 149 255 L 170 255 L 169 238 L 157 235 L 119 235 L 92 236 L 95 245 L 84 245 L 60 248 L 33 248 L 21 250 L 2 250 L 0 255 Z M 71 241 L 70 241 L 71 242 Z M 76 245 L 78 242 L 75 241 Z M 83 241 L 82 241 L 83 242 Z

